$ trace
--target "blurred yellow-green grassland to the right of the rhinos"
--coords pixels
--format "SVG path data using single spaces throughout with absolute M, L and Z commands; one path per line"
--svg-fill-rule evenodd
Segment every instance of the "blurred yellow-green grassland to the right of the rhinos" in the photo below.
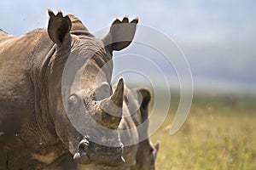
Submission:
M 156 169 L 256 169 L 255 96 L 195 94 L 187 121 L 172 136 L 171 108 L 151 136 L 160 140 Z

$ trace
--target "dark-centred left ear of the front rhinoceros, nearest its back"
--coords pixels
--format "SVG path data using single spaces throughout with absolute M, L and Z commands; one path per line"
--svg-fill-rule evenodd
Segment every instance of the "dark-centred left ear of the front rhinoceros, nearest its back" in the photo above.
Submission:
M 48 10 L 48 14 L 48 34 L 50 39 L 59 47 L 67 45 L 71 40 L 69 33 L 72 26 L 71 20 L 68 16 L 63 17 L 61 12 L 55 15 L 51 10 Z

